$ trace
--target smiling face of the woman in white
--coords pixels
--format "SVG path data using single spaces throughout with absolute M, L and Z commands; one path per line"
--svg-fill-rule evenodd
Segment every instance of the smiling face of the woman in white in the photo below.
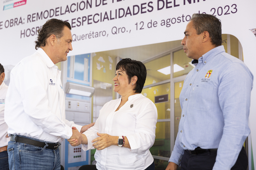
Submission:
M 121 96 L 131 92 L 134 88 L 131 85 L 132 83 L 129 84 L 128 75 L 124 70 L 116 70 L 116 77 L 113 78 L 113 81 L 115 82 L 114 92 L 117 92 Z

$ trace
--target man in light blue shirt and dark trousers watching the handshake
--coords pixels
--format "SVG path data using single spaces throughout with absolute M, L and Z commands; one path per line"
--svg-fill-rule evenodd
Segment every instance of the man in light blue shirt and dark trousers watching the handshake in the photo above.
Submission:
M 221 23 L 193 14 L 181 41 L 196 67 L 180 93 L 179 131 L 166 170 L 246 170 L 253 75 L 221 46 Z M 242 149 L 242 150 L 241 150 Z

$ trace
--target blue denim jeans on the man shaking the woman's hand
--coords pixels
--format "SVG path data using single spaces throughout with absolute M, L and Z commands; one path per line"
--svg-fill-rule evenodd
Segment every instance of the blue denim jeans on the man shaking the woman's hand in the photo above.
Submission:
M 15 136 L 16 135 L 14 135 L 14 137 Z M 37 141 L 44 142 L 41 140 Z M 30 144 L 10 141 L 7 147 L 10 170 L 60 170 L 59 148 L 57 150 L 52 150 L 46 149 L 46 146 L 47 145 L 42 148 Z

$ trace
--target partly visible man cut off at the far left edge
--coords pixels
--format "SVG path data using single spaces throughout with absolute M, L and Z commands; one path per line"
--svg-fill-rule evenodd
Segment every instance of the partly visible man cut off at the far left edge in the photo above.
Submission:
M 0 169 L 9 170 L 7 144 L 10 138 L 6 137 L 8 126 L 4 122 L 4 105 L 8 86 L 3 82 L 4 76 L 4 67 L 0 63 Z

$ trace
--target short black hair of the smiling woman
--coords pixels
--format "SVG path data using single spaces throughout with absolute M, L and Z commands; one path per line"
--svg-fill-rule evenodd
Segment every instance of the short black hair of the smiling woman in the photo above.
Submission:
M 125 58 L 117 63 L 116 70 L 118 69 L 125 71 L 125 73 L 128 75 L 129 83 L 131 83 L 133 76 L 138 77 L 133 90 L 135 90 L 135 93 L 141 93 L 147 77 L 147 69 L 145 65 L 140 61 Z

